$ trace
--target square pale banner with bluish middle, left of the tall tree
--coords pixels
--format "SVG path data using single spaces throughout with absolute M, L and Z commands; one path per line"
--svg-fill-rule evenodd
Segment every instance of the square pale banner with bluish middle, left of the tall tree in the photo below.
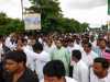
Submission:
M 25 13 L 24 14 L 25 30 L 41 30 L 41 14 Z

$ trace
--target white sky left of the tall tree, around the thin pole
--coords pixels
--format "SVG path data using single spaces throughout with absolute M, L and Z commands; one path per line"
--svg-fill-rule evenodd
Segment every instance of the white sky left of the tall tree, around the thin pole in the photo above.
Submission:
M 29 0 L 23 0 L 23 7 L 29 8 Z M 0 12 L 6 12 L 10 17 L 22 17 L 21 0 L 0 0 Z

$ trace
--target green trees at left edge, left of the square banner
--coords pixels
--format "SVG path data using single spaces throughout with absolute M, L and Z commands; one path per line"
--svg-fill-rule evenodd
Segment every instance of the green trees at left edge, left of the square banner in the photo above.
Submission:
M 4 13 L 0 13 L 0 35 L 7 35 L 12 32 L 23 32 L 24 23 L 18 19 L 10 19 Z

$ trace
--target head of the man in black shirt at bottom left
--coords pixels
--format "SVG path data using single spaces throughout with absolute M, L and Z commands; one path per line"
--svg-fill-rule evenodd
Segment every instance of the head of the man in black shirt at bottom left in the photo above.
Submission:
M 22 50 L 9 51 L 4 57 L 4 70 L 11 73 L 25 69 L 26 55 Z

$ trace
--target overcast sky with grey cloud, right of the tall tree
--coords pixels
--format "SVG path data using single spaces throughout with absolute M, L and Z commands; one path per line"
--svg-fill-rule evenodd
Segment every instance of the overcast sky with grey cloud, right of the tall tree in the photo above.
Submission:
M 88 22 L 90 26 L 106 24 L 107 0 L 59 0 L 63 14 L 79 22 Z

